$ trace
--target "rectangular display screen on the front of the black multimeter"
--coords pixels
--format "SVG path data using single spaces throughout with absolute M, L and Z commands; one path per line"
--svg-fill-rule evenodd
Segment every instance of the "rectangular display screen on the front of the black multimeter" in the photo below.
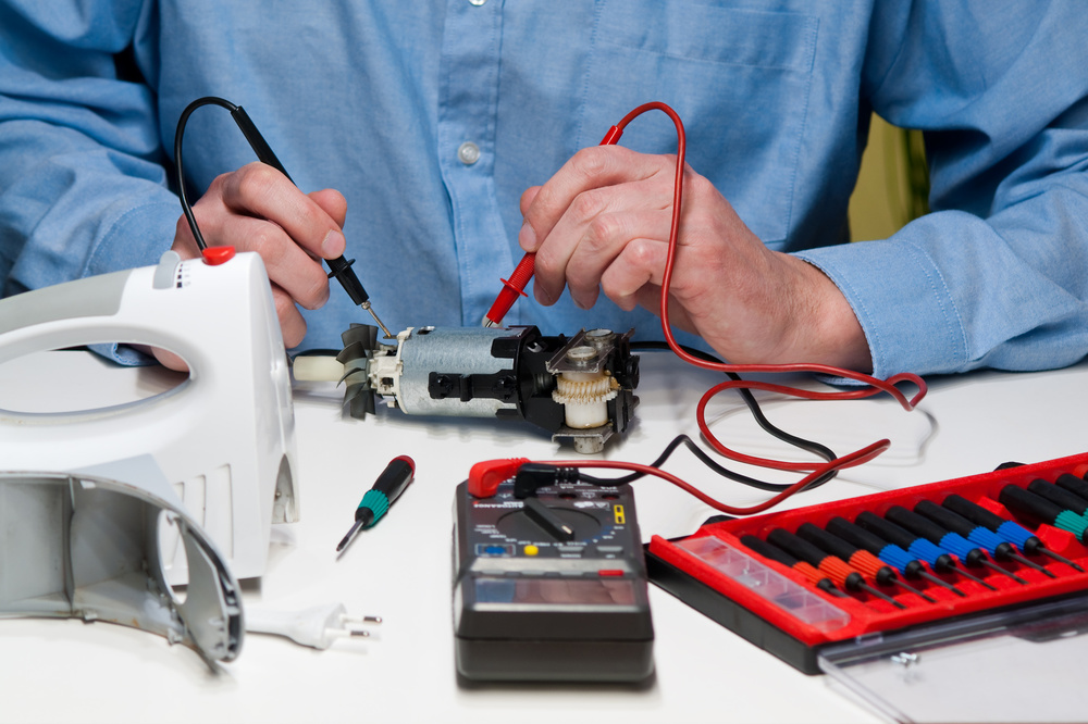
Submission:
M 477 578 L 475 596 L 478 603 L 633 606 L 634 582 L 629 578 Z

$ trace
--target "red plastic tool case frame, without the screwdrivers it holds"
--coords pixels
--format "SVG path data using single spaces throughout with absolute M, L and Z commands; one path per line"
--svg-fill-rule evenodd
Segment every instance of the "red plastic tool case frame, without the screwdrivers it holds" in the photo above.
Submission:
M 681 539 L 666 540 L 655 536 L 646 547 L 650 577 L 756 646 L 807 674 L 818 674 L 821 673 L 818 654 L 827 647 L 893 632 L 939 627 L 949 622 L 969 622 L 996 612 L 1034 608 L 1040 602 L 1079 601 L 1088 590 L 1088 573 L 1038 554 L 1028 558 L 1043 565 L 1054 577 L 1016 562 L 1001 561 L 1002 567 L 1015 573 L 1026 585 L 998 573 L 968 569 L 997 590 L 988 590 L 954 574 L 936 575 L 954 584 L 965 594 L 963 597 L 937 584 L 910 581 L 911 586 L 936 599 L 936 603 L 895 588 L 880 587 L 882 592 L 893 596 L 905 607 L 898 609 L 864 592 L 843 598 L 829 595 L 793 569 L 746 548 L 740 541 L 742 536 L 766 539 L 775 528 L 793 533 L 803 523 L 823 528 L 836 516 L 852 522 L 863 511 L 882 515 L 892 505 L 913 510 L 922 500 L 939 504 L 955 492 L 1015 521 L 1050 550 L 1088 569 L 1088 548 L 1073 534 L 1016 517 L 998 501 L 1004 486 L 1023 488 L 1037 478 L 1052 483 L 1062 473 L 1081 477 L 1086 472 L 1088 453 L 779 513 L 708 523 Z M 1073 608 L 1085 610 L 1085 607 L 1084 602 L 1077 602 Z

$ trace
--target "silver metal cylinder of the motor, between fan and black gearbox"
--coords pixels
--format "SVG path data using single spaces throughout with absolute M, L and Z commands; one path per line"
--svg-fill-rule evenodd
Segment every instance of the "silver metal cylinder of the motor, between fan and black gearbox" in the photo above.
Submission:
M 432 372 L 457 371 L 461 375 L 512 372 L 512 359 L 500 359 L 492 354 L 495 339 L 509 336 L 509 329 L 503 328 L 410 329 L 408 336 L 400 340 L 397 354 L 400 361 L 397 404 L 410 415 L 492 417 L 499 410 L 516 411 L 514 402 L 479 397 L 463 401 L 458 397 L 435 399 L 429 391 Z

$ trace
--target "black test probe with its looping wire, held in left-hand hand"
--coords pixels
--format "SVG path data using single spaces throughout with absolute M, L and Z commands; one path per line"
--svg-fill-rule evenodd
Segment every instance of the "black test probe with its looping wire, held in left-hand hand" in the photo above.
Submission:
M 200 249 L 201 253 L 208 248 L 208 242 L 205 241 L 203 235 L 200 233 L 197 220 L 193 215 L 193 208 L 189 204 L 188 196 L 185 192 L 185 174 L 182 164 L 182 138 L 185 135 L 185 124 L 188 122 L 189 115 L 202 105 L 220 105 L 230 111 L 231 116 L 238 125 L 242 134 L 246 137 L 246 140 L 249 141 L 249 146 L 254 149 L 254 152 L 257 153 L 258 160 L 282 173 L 292 184 L 295 183 L 295 180 L 290 177 L 290 174 L 287 173 L 287 170 L 283 167 L 282 163 L 280 163 L 280 159 L 276 158 L 276 154 L 272 151 L 272 147 L 269 146 L 267 140 L 264 140 L 261 132 L 257 129 L 257 125 L 252 122 L 252 118 L 249 117 L 249 114 L 246 113 L 244 108 L 235 105 L 231 101 L 223 98 L 217 98 L 215 96 L 198 98 L 186 105 L 185 110 L 182 111 L 182 115 L 177 118 L 177 130 L 174 133 L 174 167 L 177 174 L 177 196 L 182 202 L 182 212 L 185 214 L 185 220 L 189 224 L 189 230 L 193 232 L 193 238 L 196 240 L 197 247 Z M 378 317 L 378 313 L 370 304 L 370 296 L 367 294 L 367 290 L 363 289 L 362 283 L 359 282 L 359 277 L 357 277 L 355 272 L 351 271 L 351 264 L 355 263 L 355 260 L 347 260 L 344 259 L 343 255 L 339 255 L 336 259 L 326 259 L 325 263 L 329 264 L 329 269 L 331 270 L 329 272 L 329 277 L 336 277 L 336 280 L 341 283 L 342 287 L 344 287 L 344 291 L 346 291 L 351 298 L 351 301 L 370 312 L 370 315 L 374 317 L 374 322 L 376 322 L 378 326 L 380 326 L 382 332 L 385 333 L 385 338 L 393 339 L 394 335 L 390 334 L 390 330 Z

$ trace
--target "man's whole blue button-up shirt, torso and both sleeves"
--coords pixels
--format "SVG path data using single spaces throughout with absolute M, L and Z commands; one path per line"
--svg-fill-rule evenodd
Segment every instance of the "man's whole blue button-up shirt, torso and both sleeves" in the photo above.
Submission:
M 0 284 L 153 263 L 180 215 L 165 149 L 213 95 L 300 188 L 344 192 L 387 325 L 478 325 L 522 190 L 659 100 L 755 234 L 842 289 L 875 374 L 1066 365 L 1088 353 L 1085 38 L 1075 0 L 0 0 Z M 870 111 L 926 132 L 934 213 L 846 245 Z M 676 147 L 662 114 L 622 142 Z M 197 191 L 252 160 L 225 111 L 193 116 Z M 337 289 L 305 316 L 311 348 L 367 321 Z M 566 295 L 507 321 L 660 336 Z

